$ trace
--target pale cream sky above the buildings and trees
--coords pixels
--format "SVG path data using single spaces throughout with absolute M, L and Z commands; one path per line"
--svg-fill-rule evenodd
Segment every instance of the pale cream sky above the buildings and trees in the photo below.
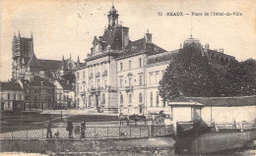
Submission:
M 103 34 L 112 4 L 119 24 L 129 27 L 130 39 L 137 40 L 149 29 L 153 42 L 171 51 L 190 37 L 200 39 L 210 49 L 238 61 L 256 59 L 255 0 L 1 0 L 0 79 L 11 78 L 14 32 L 30 37 L 37 59 L 61 60 L 70 54 L 83 61 L 93 46 L 94 36 Z M 159 13 L 162 16 L 159 16 Z M 183 12 L 188 16 L 165 16 Z M 242 16 L 191 16 L 192 12 L 239 12 Z

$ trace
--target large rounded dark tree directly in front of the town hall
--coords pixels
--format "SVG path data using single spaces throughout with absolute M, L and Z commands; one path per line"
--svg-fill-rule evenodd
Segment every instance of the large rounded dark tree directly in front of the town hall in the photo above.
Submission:
M 211 96 L 216 91 L 215 73 L 200 43 L 184 45 L 160 80 L 160 96 L 170 101 L 181 94 Z

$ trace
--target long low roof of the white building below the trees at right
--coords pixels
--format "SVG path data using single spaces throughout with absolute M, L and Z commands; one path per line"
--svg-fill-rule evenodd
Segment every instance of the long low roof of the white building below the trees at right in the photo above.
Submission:
M 256 105 L 256 95 L 236 97 L 187 97 L 206 106 L 252 106 Z

